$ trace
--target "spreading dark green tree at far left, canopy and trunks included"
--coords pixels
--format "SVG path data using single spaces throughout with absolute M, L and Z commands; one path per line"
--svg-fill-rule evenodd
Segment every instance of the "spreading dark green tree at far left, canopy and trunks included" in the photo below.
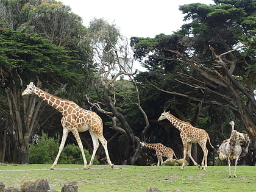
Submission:
M 0 29 L 1 90 L 5 90 L 12 126 L 4 135 L 8 162 L 28 163 L 29 140 L 37 124 L 41 101 L 31 96 L 21 98 L 24 83 L 37 79 L 41 87 L 58 82 L 72 85 L 82 74 L 68 71 L 76 62 L 69 51 L 55 46 L 35 34 L 23 34 L 10 29 Z M 2 155 L 2 154 L 1 154 Z

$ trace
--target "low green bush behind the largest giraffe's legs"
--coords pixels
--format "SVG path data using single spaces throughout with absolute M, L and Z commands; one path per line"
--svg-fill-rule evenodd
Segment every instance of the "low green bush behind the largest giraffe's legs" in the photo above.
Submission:
M 53 163 L 59 151 L 59 135 L 57 139 L 48 137 L 46 133 L 42 133 L 37 143 L 30 144 L 29 148 L 29 163 L 30 164 L 46 164 Z M 89 163 L 91 155 L 88 150 L 84 149 L 85 157 Z M 82 153 L 75 144 L 68 144 L 60 154 L 58 163 L 61 164 L 84 164 Z M 98 157 L 93 160 L 94 165 L 98 165 Z

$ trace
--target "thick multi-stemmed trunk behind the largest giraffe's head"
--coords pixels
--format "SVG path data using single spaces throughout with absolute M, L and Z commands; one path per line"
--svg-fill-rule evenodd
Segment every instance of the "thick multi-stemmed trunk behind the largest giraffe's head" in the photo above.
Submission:
M 34 130 L 41 100 L 37 96 L 24 96 L 21 98 L 22 84 L 15 80 L 9 88 L 5 89 L 12 119 L 12 133 L 9 134 L 9 161 L 15 163 L 29 163 L 29 139 Z

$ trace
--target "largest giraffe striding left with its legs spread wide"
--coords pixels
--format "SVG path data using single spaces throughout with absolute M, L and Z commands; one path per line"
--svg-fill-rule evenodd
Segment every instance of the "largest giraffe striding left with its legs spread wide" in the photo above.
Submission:
M 79 107 L 79 105 L 77 105 L 73 101 L 57 98 L 57 96 L 54 96 L 50 93 L 47 93 L 46 91 L 41 90 L 38 87 L 35 87 L 33 82 L 30 82 L 30 84 L 27 85 L 26 90 L 24 90 L 21 95 L 24 96 L 27 94 L 36 94 L 40 99 L 47 102 L 49 105 L 62 113 L 63 116 L 61 119 L 63 127 L 62 142 L 60 143 L 57 157 L 55 158 L 55 161 L 50 168 L 51 170 L 54 169 L 55 165 L 57 165 L 60 154 L 64 148 L 66 138 L 68 137 L 68 133 L 70 131 L 76 138 L 77 144 L 80 148 L 80 151 L 82 152 L 82 157 L 84 159 L 83 169 L 88 169 L 91 165 L 93 165 L 94 156 L 99 147 L 99 141 L 101 141 L 101 144 L 105 150 L 108 165 L 113 168 L 114 165 L 108 155 L 107 140 L 105 140 L 103 136 L 102 119 L 95 112 L 85 110 L 84 108 Z M 87 130 L 90 132 L 91 138 L 93 140 L 93 154 L 91 155 L 91 160 L 88 166 L 84 154 L 84 147 L 79 137 L 79 132 L 85 132 Z

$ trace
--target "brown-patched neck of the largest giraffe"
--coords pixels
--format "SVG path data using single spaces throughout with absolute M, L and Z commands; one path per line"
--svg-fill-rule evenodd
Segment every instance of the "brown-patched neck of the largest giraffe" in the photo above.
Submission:
M 47 93 L 46 91 L 43 91 L 38 87 L 36 87 L 35 94 L 37 94 L 40 99 L 47 102 L 52 107 L 56 108 L 60 113 L 63 113 L 65 110 L 65 102 L 69 102 L 65 99 L 60 99 L 50 93 Z

